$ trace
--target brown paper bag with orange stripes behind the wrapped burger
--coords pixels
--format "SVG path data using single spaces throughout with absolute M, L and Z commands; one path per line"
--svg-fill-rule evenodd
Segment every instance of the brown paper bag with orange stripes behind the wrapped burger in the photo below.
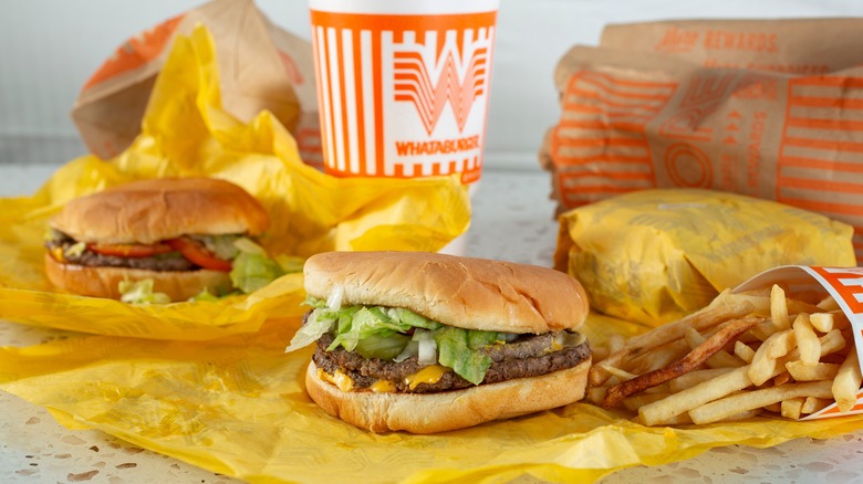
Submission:
M 852 23 L 825 22 L 804 31 L 853 36 L 843 32 Z M 854 64 L 856 45 L 776 62 Z M 862 67 L 789 75 L 637 49 L 575 46 L 559 62 L 562 115 L 540 154 L 559 212 L 645 188 L 731 191 L 854 225 L 863 260 Z

